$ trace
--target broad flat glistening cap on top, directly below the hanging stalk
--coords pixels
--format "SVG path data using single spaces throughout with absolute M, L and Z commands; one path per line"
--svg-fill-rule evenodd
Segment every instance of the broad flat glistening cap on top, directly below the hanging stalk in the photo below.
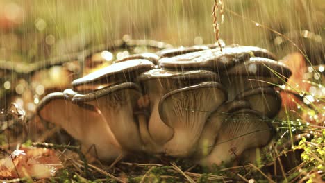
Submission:
M 240 49 L 240 47 L 226 47 L 223 51 L 207 49 L 172 58 L 161 58 L 159 66 L 167 69 L 209 69 L 219 72 L 238 62 L 248 60 L 251 55 L 253 55 L 251 51 Z

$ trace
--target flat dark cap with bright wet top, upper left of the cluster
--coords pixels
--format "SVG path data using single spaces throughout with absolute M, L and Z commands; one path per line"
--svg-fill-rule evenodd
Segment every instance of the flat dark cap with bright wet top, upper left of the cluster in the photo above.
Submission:
M 154 64 L 149 60 L 127 60 L 78 78 L 72 82 L 72 87 L 76 91 L 96 90 L 100 89 L 101 85 L 108 87 L 120 82 L 132 81 L 140 73 L 153 69 L 153 67 Z

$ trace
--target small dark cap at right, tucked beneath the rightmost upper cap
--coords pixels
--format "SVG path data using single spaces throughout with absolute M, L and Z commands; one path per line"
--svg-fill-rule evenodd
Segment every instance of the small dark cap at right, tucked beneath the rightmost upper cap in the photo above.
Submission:
M 252 110 L 261 112 L 263 116 L 275 117 L 281 110 L 281 96 L 271 87 L 258 87 L 238 94 L 235 100 L 248 101 Z

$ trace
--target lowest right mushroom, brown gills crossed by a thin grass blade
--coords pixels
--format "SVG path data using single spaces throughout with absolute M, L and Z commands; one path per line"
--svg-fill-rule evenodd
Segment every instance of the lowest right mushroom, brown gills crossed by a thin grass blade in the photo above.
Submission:
M 219 130 L 215 146 L 211 153 L 200 160 L 201 164 L 218 166 L 222 162 L 231 162 L 244 150 L 266 146 L 272 139 L 272 124 L 263 119 L 255 110 L 239 110 L 229 115 Z

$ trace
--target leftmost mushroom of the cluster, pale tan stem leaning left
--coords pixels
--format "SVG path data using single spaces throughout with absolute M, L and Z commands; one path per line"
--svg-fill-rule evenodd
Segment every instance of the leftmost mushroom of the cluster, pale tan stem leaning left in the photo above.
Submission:
M 81 141 L 85 150 L 94 145 L 99 159 L 113 161 L 124 154 L 106 119 L 93 105 L 73 104 L 65 94 L 56 92 L 40 101 L 37 114 L 40 119 L 59 125 Z

